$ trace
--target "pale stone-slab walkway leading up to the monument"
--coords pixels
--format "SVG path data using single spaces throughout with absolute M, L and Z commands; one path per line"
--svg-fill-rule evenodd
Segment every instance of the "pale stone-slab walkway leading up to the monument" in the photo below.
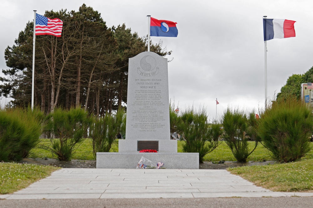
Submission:
M 226 170 L 64 168 L 0 199 L 122 199 L 313 196 L 272 192 Z

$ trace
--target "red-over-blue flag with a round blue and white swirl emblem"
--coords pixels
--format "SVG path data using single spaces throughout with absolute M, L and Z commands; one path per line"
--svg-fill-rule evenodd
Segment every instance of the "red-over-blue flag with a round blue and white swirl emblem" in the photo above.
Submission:
M 177 37 L 177 22 L 150 18 L 150 36 Z

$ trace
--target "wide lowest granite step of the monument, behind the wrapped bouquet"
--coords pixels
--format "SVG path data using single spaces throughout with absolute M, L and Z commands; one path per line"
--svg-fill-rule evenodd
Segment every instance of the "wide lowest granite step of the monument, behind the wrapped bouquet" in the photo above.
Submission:
M 199 153 L 97 152 L 97 168 L 134 169 L 141 157 L 154 163 L 163 162 L 166 169 L 199 169 Z

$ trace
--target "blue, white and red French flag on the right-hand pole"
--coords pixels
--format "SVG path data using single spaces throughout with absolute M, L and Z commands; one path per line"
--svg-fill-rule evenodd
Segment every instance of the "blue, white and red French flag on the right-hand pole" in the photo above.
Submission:
M 295 37 L 295 21 L 284 19 L 263 19 L 264 41 L 273 38 Z

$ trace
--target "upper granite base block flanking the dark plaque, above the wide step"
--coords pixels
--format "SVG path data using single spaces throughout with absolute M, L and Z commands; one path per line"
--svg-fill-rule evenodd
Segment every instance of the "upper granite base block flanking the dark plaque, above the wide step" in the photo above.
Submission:
M 118 152 L 135 152 L 137 150 L 138 141 L 149 141 L 149 139 L 136 139 L 136 140 L 135 139 L 134 140 L 133 139 L 119 139 L 118 140 Z M 158 142 L 159 148 L 157 152 L 170 152 L 170 153 L 177 152 L 177 140 L 160 139 L 158 141 L 159 141 Z

